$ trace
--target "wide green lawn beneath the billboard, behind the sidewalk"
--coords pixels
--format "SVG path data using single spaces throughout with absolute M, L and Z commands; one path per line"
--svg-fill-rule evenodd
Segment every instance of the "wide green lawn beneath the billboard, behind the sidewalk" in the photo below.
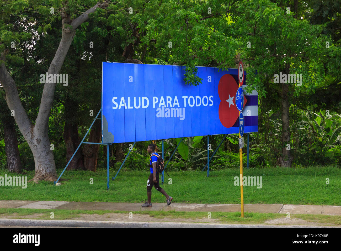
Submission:
M 57 170 L 60 175 L 61 169 Z M 0 171 L 9 176 L 16 174 Z M 29 182 L 26 189 L 19 186 L 0 186 L 0 200 L 62 200 L 141 203 L 147 199 L 147 171 L 110 170 L 110 190 L 106 190 L 106 170 L 65 171 L 61 186 L 42 181 Z M 28 180 L 34 172 L 27 172 Z M 173 203 L 240 203 L 240 186 L 234 186 L 239 169 L 169 172 L 172 184 L 161 187 L 172 197 Z M 341 169 L 333 166 L 309 168 L 267 168 L 243 170 L 243 176 L 262 176 L 262 188 L 244 186 L 244 203 L 282 203 L 306 205 L 341 205 Z M 93 185 L 90 184 L 93 178 Z M 326 184 L 329 178 L 329 184 Z M 161 178 L 160 178 L 161 181 Z M 165 197 L 152 190 L 152 202 L 163 203 Z

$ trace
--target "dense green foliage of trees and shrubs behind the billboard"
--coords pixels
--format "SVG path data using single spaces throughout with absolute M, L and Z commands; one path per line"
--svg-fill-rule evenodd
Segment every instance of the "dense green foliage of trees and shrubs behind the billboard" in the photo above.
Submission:
M 45 73 L 60 42 L 59 12 L 68 12 L 74 19 L 97 3 L 83 2 L 0 1 L 0 51 L 7 53 L 6 67 L 17 83 L 21 103 L 32 123 L 43 90 L 38 76 Z M 259 95 L 259 132 L 249 135 L 249 167 L 280 165 L 286 143 L 290 144 L 293 167 L 340 166 L 340 6 L 338 0 L 138 0 L 104 5 L 78 27 L 61 69 L 71 77 L 67 88 L 57 85 L 49 119 L 56 168 L 66 164 L 65 121 L 77 126 L 81 139 L 100 109 L 102 61 L 186 65 L 186 82 L 198 85 L 201 79 L 195 74 L 195 66 L 236 68 L 239 60 L 246 66 L 247 83 L 256 87 Z M 12 41 L 15 47 L 11 47 Z M 283 86 L 273 81 L 273 75 L 284 70 L 303 75 L 302 85 L 289 85 L 286 93 L 288 141 L 281 138 Z M 5 95 L 2 86 L 0 92 Z M 1 119 L 9 115 L 5 102 L 0 102 L 0 110 Z M 34 170 L 32 152 L 18 128 L 16 136 L 23 169 Z M 210 136 L 210 155 L 223 137 Z M 124 168 L 146 169 L 149 143 L 136 142 Z M 161 140 L 155 143 L 161 151 Z M 178 143 L 179 139 L 164 140 L 166 162 Z M 110 147 L 110 163 L 115 170 L 122 163 L 115 154 L 119 153 L 118 147 L 126 156 L 129 143 Z M 246 166 L 246 147 L 243 156 Z M 196 170 L 203 169 L 206 163 L 207 137 L 189 137 L 180 143 L 167 168 Z M 97 165 L 106 168 L 106 146 L 99 148 Z M 6 168 L 2 124 L 0 167 Z M 236 135 L 227 136 L 210 168 L 239 168 Z

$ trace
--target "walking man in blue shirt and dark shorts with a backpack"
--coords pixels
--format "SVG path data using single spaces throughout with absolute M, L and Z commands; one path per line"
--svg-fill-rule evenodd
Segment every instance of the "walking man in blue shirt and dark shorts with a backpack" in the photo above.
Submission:
M 154 186 L 156 190 L 158 190 L 160 193 L 162 193 L 164 196 L 166 196 L 166 202 L 167 202 L 167 206 L 170 205 L 170 203 L 172 203 L 173 198 L 168 196 L 168 194 L 165 192 L 165 190 L 163 190 L 160 187 L 159 184 L 159 175 L 160 173 L 156 172 L 156 162 L 158 161 L 158 157 L 154 156 L 154 155 L 158 155 L 160 156 L 157 152 L 155 152 L 155 144 L 149 144 L 147 151 L 148 153 L 150 153 L 150 155 L 153 155 L 149 158 L 149 167 L 150 167 L 150 175 L 147 181 L 147 197 L 148 197 L 148 201 L 142 205 L 142 207 L 151 207 L 151 189 Z

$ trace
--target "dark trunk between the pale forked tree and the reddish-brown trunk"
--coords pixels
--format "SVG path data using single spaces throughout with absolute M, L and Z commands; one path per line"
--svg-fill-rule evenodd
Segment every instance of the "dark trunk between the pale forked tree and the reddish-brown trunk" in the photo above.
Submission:
M 73 109 L 75 109 L 75 107 L 77 107 L 77 103 L 67 97 L 64 103 L 65 125 L 63 133 L 63 138 L 66 146 L 66 164 L 70 161 L 70 158 L 80 144 L 78 126 L 74 121 L 72 121 L 74 114 Z M 84 169 L 83 155 L 81 153 L 81 149 L 78 149 L 67 168 L 67 170 L 77 169 Z

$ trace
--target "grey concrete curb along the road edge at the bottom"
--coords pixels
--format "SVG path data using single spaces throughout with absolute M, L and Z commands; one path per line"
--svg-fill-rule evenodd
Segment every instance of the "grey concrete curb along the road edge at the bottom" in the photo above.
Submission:
M 42 227 L 333 227 L 315 225 L 264 225 L 186 222 L 124 222 L 124 221 L 81 221 L 81 220 L 29 220 L 0 219 L 0 226 L 42 226 Z

